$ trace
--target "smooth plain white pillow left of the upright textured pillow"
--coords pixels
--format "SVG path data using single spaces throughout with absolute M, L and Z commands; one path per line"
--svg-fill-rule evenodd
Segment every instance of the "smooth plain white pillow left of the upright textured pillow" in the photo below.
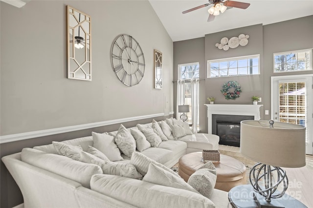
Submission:
M 105 154 L 110 161 L 123 160 L 113 136 L 92 132 L 92 139 L 93 147 Z

